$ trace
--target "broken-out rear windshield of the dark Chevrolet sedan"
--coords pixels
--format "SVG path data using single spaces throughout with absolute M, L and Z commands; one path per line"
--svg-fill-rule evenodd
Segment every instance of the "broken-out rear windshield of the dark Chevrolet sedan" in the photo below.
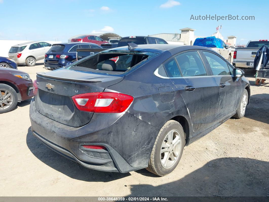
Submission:
M 144 52 L 99 53 L 75 62 L 71 66 L 67 67 L 67 69 L 80 71 L 100 70 L 122 73 L 156 55 L 157 53 Z

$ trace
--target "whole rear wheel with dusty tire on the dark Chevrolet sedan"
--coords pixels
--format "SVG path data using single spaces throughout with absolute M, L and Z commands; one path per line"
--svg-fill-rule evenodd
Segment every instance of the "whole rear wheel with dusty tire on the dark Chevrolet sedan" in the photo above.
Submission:
M 171 139 L 174 142 L 168 144 Z M 167 121 L 158 133 L 146 169 L 158 176 L 171 173 L 178 165 L 184 146 L 185 135 L 180 123 L 174 120 Z

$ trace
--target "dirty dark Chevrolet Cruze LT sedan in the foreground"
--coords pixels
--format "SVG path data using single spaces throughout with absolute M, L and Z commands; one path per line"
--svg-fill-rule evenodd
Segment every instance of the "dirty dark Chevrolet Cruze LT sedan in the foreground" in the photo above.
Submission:
M 224 57 L 174 44 L 105 50 L 34 83 L 31 130 L 49 148 L 87 168 L 160 176 L 185 145 L 242 118 L 250 97 L 244 72 Z

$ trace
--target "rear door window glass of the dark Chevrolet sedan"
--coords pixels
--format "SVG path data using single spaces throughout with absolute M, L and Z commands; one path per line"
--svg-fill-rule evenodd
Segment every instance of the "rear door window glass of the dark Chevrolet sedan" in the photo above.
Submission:
M 197 51 L 182 53 L 175 58 L 183 77 L 207 76 L 206 69 Z

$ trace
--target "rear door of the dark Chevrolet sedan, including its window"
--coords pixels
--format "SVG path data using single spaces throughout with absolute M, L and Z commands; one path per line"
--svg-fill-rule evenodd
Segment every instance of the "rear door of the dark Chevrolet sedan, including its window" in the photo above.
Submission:
M 216 123 L 219 102 L 218 85 L 198 51 L 180 53 L 164 67 L 184 100 L 193 132 L 201 132 Z

